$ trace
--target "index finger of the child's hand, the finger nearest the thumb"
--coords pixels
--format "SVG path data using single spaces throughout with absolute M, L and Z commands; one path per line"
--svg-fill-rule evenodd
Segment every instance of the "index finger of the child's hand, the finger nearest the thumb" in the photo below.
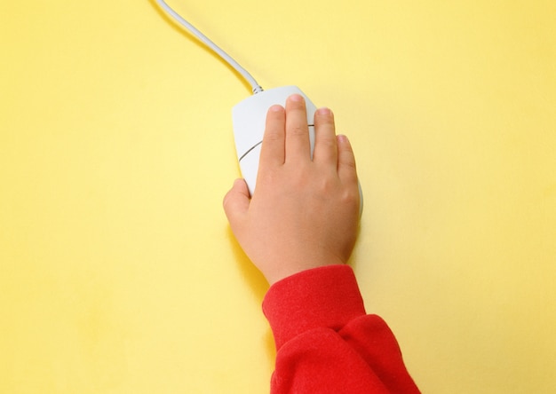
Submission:
M 271 106 L 266 114 L 265 136 L 259 165 L 262 168 L 282 165 L 285 160 L 286 114 L 282 106 Z

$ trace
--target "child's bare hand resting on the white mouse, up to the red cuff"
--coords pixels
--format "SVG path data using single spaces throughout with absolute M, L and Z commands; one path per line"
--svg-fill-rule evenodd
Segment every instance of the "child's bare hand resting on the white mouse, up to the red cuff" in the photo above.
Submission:
M 272 285 L 296 272 L 345 264 L 359 223 L 359 188 L 352 147 L 336 136 L 329 109 L 314 114 L 311 160 L 301 96 L 266 117 L 257 187 L 250 199 L 242 179 L 224 198 L 236 239 Z

